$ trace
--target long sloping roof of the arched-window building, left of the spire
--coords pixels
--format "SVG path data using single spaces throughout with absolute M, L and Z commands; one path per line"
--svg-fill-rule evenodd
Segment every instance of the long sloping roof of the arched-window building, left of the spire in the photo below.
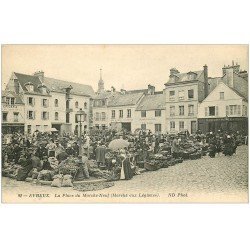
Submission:
M 95 94 L 93 88 L 90 85 L 63 81 L 50 77 L 44 77 L 44 84 L 52 92 L 65 93 L 65 88 L 71 85 L 73 89 L 70 91 L 70 93 L 72 94 L 85 96 L 93 96 Z

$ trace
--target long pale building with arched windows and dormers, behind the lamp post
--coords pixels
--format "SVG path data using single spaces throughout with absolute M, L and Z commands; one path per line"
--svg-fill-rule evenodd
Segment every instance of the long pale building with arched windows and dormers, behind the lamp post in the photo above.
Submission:
M 18 109 L 24 133 L 49 132 L 52 128 L 60 133 L 77 133 L 76 112 L 80 108 L 85 112 L 84 131 L 90 127 L 90 99 L 94 91 L 89 85 L 45 77 L 42 71 L 34 75 L 14 72 L 5 92 L 20 98 Z

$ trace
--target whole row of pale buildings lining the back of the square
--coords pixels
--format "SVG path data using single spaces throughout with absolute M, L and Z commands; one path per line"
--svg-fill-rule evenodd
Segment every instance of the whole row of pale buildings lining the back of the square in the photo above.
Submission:
M 162 91 L 105 90 L 102 75 L 95 93 L 89 85 L 44 76 L 12 73 L 2 93 L 2 131 L 77 132 L 76 113 L 85 112 L 84 130 L 151 130 L 153 133 L 195 133 L 248 127 L 248 73 L 237 63 L 224 66 L 222 76 L 200 71 L 170 70 Z

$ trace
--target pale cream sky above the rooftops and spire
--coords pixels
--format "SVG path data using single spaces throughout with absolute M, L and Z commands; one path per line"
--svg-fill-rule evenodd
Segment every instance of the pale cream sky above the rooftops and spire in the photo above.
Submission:
M 224 64 L 240 64 L 248 71 L 248 45 L 3 45 L 2 87 L 12 72 L 33 74 L 89 84 L 96 91 L 100 68 L 105 89 L 147 88 L 162 90 L 169 70 L 202 70 L 222 75 Z

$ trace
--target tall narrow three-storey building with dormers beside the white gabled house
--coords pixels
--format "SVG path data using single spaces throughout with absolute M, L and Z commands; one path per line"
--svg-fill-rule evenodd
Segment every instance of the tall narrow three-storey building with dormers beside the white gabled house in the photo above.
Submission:
M 170 70 L 165 84 L 166 131 L 178 133 L 188 130 L 197 131 L 198 103 L 208 94 L 208 69 L 205 65 L 201 71 L 180 73 Z

